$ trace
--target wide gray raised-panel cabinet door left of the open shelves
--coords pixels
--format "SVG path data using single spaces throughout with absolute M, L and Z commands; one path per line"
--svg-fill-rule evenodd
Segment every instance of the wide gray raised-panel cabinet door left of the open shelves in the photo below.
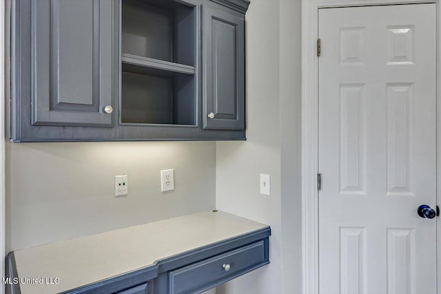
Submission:
M 31 2 L 32 125 L 112 126 L 116 2 Z

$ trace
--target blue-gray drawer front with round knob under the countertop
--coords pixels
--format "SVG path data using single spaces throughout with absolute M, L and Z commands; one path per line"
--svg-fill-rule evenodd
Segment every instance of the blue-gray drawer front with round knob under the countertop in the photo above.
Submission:
M 267 264 L 265 243 L 259 241 L 171 271 L 169 293 L 205 291 L 264 264 Z

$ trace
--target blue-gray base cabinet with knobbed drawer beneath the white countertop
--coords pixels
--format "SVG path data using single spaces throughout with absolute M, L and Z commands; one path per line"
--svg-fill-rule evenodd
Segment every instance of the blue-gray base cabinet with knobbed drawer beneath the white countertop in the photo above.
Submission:
M 269 227 L 223 242 L 158 260 L 154 266 L 65 291 L 65 294 L 194 294 L 202 293 L 269 264 Z M 84 269 L 87 271 L 87 269 Z M 14 252 L 8 254 L 6 276 L 18 277 Z M 21 293 L 9 284 L 8 293 Z

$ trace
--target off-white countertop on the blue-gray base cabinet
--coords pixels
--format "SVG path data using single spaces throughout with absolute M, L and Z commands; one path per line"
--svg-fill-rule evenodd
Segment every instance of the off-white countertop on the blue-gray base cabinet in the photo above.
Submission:
M 59 278 L 59 284 L 20 284 L 21 293 L 67 291 L 265 228 L 209 211 L 14 251 L 20 278 Z

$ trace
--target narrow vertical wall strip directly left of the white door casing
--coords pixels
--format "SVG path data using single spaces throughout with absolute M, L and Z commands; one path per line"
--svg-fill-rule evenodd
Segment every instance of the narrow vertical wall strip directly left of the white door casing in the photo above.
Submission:
M 300 0 L 280 0 L 282 292 L 302 293 L 302 105 Z

